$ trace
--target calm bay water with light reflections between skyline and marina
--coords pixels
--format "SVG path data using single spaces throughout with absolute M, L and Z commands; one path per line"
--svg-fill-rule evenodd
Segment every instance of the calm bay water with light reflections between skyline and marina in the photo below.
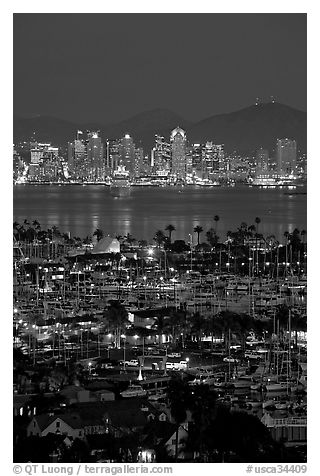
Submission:
M 254 224 L 258 216 L 259 232 L 284 241 L 286 231 L 307 226 L 307 196 L 284 192 L 247 187 L 186 187 L 182 193 L 174 188 L 134 188 L 129 197 L 115 198 L 104 186 L 19 185 L 13 191 L 13 213 L 19 222 L 37 219 L 43 228 L 56 225 L 81 237 L 102 228 L 105 234 L 131 233 L 150 240 L 156 230 L 171 223 L 176 228 L 172 238 L 187 241 L 197 225 L 204 230 L 202 241 L 206 231 L 216 226 L 217 234 L 225 239 L 228 230 L 235 230 L 241 222 Z M 220 216 L 217 224 L 215 215 Z

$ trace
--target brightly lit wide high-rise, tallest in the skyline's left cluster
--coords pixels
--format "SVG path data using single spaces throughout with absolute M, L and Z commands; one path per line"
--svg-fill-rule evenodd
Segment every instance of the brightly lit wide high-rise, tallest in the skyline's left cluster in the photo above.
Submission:
M 105 178 L 104 147 L 99 134 L 100 131 L 87 131 L 87 164 L 89 179 L 93 181 Z

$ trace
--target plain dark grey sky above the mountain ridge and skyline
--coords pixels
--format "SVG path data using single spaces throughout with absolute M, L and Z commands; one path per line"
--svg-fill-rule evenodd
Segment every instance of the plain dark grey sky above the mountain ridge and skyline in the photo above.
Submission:
M 274 95 L 306 110 L 305 14 L 14 14 L 14 112 L 199 120 Z

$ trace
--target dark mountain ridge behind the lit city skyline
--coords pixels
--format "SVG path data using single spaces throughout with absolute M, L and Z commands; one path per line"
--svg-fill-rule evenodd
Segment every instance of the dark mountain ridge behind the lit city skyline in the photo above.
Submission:
M 14 142 L 48 141 L 66 147 L 78 129 L 100 130 L 104 139 L 117 139 L 130 134 L 136 145 L 149 153 L 154 146 L 155 134 L 167 140 L 170 131 L 180 126 L 187 132 L 189 143 L 213 141 L 224 144 L 227 152 L 254 153 L 264 147 L 271 152 L 277 138 L 296 139 L 298 149 L 307 148 L 307 113 L 280 103 L 252 105 L 227 114 L 212 115 L 197 123 L 192 123 L 168 109 L 153 109 L 141 112 L 115 124 L 76 124 L 50 116 L 13 119 Z

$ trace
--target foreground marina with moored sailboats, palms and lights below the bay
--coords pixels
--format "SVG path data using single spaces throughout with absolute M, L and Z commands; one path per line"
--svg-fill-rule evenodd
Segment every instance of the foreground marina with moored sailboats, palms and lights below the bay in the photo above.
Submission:
M 16 454 L 63 431 L 93 461 L 306 461 L 304 235 L 296 228 L 283 246 L 242 225 L 179 252 L 169 236 L 94 235 L 14 224 L 14 418 L 27 434 Z M 222 453 L 192 449 L 226 421 Z M 164 427 L 160 447 L 146 440 Z M 125 456 L 109 447 L 119 438 Z

